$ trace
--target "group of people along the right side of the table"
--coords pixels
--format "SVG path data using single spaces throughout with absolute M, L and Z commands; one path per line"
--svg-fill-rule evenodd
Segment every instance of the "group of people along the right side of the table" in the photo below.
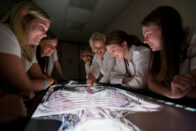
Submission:
M 156 8 L 141 24 L 144 42 L 121 30 L 91 35 L 92 52 L 82 54 L 87 83 L 147 87 L 169 98 L 196 98 L 194 28 L 183 29 L 180 14 L 169 6 Z

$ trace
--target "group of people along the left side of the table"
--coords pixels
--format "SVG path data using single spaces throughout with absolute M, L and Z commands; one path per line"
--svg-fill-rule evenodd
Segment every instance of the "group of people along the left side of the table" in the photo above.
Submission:
M 0 123 L 27 115 L 25 102 L 49 87 L 53 66 L 65 80 L 56 52 L 51 19 L 36 4 L 23 1 L 0 23 Z

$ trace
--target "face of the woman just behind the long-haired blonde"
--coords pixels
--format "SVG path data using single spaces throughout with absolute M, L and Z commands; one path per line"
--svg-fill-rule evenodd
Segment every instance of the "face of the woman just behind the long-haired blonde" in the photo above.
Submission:
M 56 39 L 42 40 L 41 55 L 51 56 L 54 53 L 56 46 L 57 46 Z

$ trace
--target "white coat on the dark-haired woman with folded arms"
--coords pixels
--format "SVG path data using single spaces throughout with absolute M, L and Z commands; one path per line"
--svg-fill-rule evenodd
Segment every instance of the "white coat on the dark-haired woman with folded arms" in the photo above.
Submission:
M 122 80 L 126 75 L 125 62 L 123 59 L 116 60 L 116 64 L 111 73 L 110 83 L 121 84 L 135 89 L 146 87 L 150 62 L 150 49 L 144 46 L 131 46 L 128 62 L 128 72 L 133 76 L 133 79 L 126 84 L 122 84 Z

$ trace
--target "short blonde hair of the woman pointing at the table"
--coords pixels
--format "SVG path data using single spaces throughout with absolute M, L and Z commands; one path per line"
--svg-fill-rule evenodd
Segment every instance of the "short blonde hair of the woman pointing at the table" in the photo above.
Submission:
M 97 40 L 102 40 L 105 43 L 106 42 L 105 34 L 100 33 L 100 32 L 95 32 L 91 35 L 90 40 L 89 40 L 89 44 L 90 44 L 92 51 L 93 51 L 93 42 L 95 42 Z

